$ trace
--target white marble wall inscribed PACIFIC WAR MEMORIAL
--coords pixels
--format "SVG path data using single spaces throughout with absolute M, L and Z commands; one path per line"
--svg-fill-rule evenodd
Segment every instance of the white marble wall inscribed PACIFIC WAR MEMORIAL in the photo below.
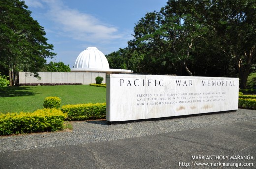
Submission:
M 107 75 L 107 121 L 238 109 L 238 78 Z

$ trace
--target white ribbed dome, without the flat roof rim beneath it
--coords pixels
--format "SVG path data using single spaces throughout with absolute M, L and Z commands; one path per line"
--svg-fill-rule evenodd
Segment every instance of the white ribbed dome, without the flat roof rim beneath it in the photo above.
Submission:
M 109 69 L 106 56 L 96 47 L 88 47 L 82 51 L 75 61 L 74 68 Z

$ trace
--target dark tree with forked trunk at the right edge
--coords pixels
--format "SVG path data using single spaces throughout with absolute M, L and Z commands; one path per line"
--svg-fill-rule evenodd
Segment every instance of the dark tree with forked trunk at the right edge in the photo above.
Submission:
M 181 3 L 184 13 L 212 27 L 223 42 L 221 50 L 234 61 L 245 89 L 252 64 L 256 62 L 256 0 L 169 0 Z

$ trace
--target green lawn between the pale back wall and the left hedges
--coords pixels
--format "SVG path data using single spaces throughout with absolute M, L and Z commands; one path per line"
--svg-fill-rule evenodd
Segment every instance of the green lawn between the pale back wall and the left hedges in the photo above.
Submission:
M 89 85 L 19 86 L 0 88 L 0 112 L 33 112 L 43 108 L 45 97 L 57 96 L 61 106 L 106 102 L 106 88 Z

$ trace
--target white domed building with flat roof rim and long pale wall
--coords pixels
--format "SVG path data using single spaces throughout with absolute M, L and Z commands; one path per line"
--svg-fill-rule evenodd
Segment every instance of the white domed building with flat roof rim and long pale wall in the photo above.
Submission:
M 97 76 L 103 77 L 106 83 L 106 74 L 133 73 L 126 69 L 110 69 L 106 56 L 96 47 L 88 47 L 82 51 L 75 61 L 71 72 L 38 72 L 41 79 L 37 79 L 31 72 L 19 72 L 19 84 L 74 84 L 88 85 L 95 83 Z

